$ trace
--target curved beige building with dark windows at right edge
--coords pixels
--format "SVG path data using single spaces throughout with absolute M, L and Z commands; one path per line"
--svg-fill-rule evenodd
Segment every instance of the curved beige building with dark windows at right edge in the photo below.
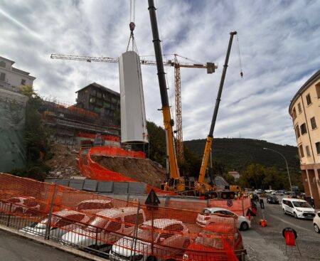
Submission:
M 320 208 L 320 70 L 294 95 L 289 114 L 297 137 L 304 190 Z

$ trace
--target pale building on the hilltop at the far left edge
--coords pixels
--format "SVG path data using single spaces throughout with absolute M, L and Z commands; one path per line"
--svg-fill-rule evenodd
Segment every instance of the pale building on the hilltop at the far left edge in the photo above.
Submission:
M 24 70 L 12 67 L 14 63 L 13 60 L 0 56 L 0 88 L 19 92 L 21 85 L 33 86 L 33 80 L 36 78 Z

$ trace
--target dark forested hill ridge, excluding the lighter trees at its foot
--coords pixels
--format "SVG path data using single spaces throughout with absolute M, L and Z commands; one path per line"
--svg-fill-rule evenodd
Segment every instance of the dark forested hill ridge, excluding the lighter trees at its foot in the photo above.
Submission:
M 199 156 L 203 156 L 206 139 L 193 139 L 183 142 L 188 149 Z M 250 164 L 260 164 L 266 167 L 275 166 L 280 171 L 287 171 L 282 156 L 274 151 L 263 148 L 274 149 L 283 154 L 287 159 L 289 171 L 299 173 L 299 155 L 297 147 L 279 145 L 258 139 L 213 139 L 212 144 L 213 161 L 225 166 L 225 171 L 244 171 Z

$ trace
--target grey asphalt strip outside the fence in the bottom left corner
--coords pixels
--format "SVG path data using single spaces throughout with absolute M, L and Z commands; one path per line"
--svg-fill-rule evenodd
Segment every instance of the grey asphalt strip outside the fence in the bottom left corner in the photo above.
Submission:
M 0 230 L 1 261 L 87 261 L 47 245 Z

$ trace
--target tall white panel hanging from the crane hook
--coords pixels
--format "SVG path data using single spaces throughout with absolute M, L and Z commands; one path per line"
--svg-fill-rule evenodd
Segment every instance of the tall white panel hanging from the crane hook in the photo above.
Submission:
M 139 55 L 134 51 L 119 58 L 121 142 L 148 142 L 146 111 Z

